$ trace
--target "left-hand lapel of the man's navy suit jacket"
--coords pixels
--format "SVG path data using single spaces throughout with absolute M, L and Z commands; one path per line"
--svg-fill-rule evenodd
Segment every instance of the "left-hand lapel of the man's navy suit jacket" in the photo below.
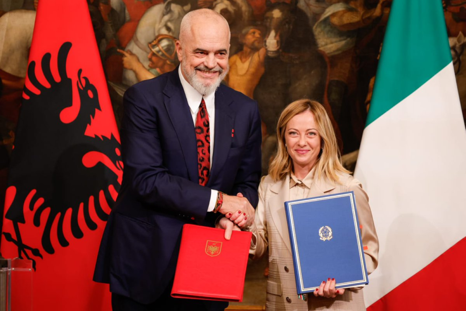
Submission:
M 171 72 L 163 93 L 166 95 L 165 108 L 178 136 L 189 180 L 198 183 L 196 134 L 186 95 L 179 80 L 178 67 Z

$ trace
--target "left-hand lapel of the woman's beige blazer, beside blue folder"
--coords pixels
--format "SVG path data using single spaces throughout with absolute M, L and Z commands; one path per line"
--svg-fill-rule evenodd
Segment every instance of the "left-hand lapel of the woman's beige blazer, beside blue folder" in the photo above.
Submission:
M 274 184 L 270 191 L 276 194 L 276 197 L 270 197 L 269 208 L 274 220 L 277 231 L 282 236 L 283 242 L 291 252 L 290 234 L 288 233 L 287 215 L 285 212 L 285 201 L 290 200 L 290 175 L 284 180 Z

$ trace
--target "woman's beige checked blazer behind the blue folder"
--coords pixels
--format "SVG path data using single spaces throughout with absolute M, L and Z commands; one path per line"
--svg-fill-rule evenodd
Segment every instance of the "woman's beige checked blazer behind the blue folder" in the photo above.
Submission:
M 367 272 L 371 273 L 377 267 L 379 244 L 367 194 L 361 183 L 351 175 L 341 174 L 340 181 L 342 185 L 335 185 L 326 178 L 314 180 L 309 191 L 310 197 L 354 191 L 359 224 L 362 226 L 362 243 L 367 246 L 364 250 Z M 260 258 L 269 248 L 266 309 L 365 310 L 362 289 L 347 289 L 337 298 L 316 298 L 313 294 L 307 295 L 306 301 L 298 298 L 284 207 L 289 195 L 290 175 L 278 182 L 274 182 L 270 176 L 264 177 L 259 186 L 255 223 L 250 227 L 253 232 L 250 254 Z

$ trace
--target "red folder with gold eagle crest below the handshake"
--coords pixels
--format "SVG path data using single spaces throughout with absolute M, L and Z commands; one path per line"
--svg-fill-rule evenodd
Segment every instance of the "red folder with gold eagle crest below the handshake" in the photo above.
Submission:
M 176 298 L 243 301 L 251 232 L 185 224 L 171 295 Z

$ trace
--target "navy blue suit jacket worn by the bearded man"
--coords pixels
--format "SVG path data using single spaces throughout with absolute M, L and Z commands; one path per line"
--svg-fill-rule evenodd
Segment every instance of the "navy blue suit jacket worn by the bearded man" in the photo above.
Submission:
M 219 215 L 207 213 L 211 189 L 241 192 L 257 205 L 261 120 L 254 100 L 220 85 L 213 160 L 203 187 L 178 70 L 135 84 L 123 102 L 123 182 L 102 237 L 94 280 L 110 283 L 113 293 L 150 303 L 174 276 L 182 226 L 214 226 Z

